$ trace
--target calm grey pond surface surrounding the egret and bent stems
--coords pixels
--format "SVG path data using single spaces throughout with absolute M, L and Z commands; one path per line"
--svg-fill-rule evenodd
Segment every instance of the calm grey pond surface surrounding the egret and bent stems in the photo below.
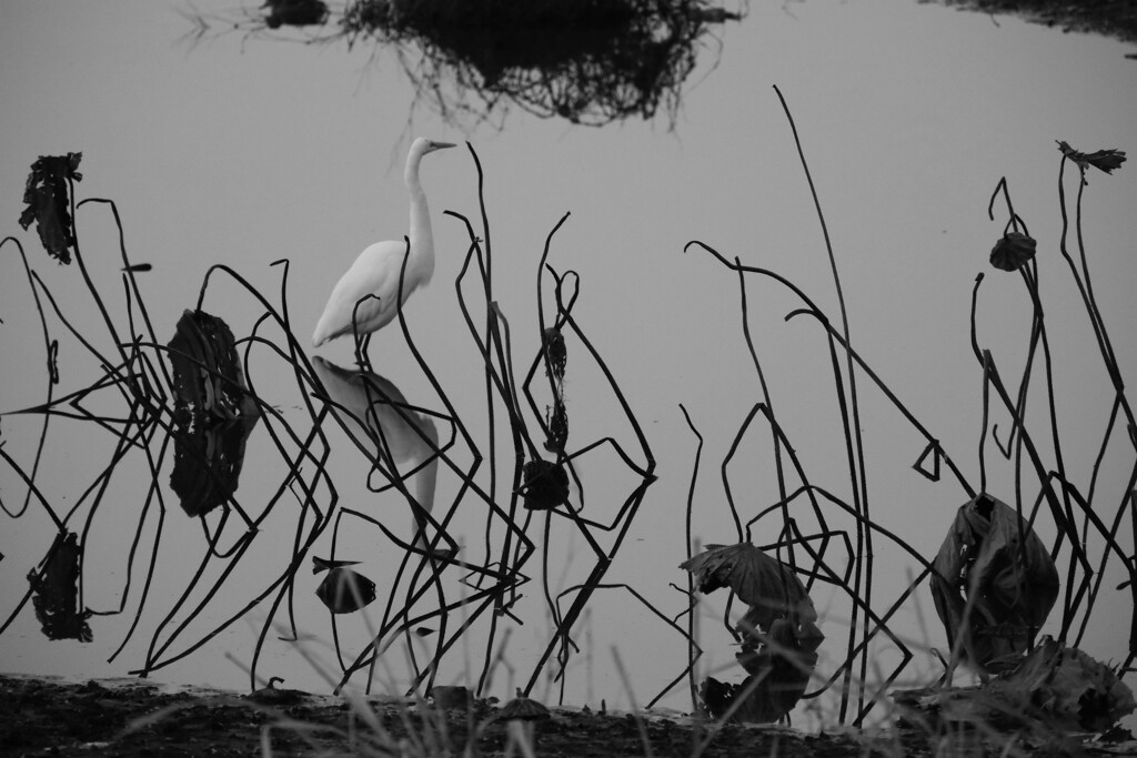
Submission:
M 1061 590 L 1040 632 L 1101 660 L 1127 660 L 1132 594 L 1117 588 L 1130 578 L 1131 558 L 1119 556 L 1135 550 L 1126 518 L 1137 508 L 1129 499 L 1135 451 L 1128 405 L 1114 403 L 1095 335 L 1104 324 L 1117 374 L 1132 376 L 1137 175 L 1129 166 L 1087 169 L 1079 217 L 1093 275 L 1095 308 L 1087 308 L 1060 249 L 1060 167 L 1071 224 L 1078 169 L 1063 164 L 1056 141 L 1087 153 L 1131 150 L 1131 45 L 904 0 L 753 3 L 741 20 L 703 38 L 673 120 L 661 113 L 587 127 L 514 108 L 488 123 L 468 114 L 455 123 L 429 93 L 416 98 L 392 48 L 306 43 L 287 31 L 279 39 L 219 33 L 219 22 L 194 38 L 189 16 L 236 7 L 17 2 L 0 11 L 0 218 L 39 277 L 30 284 L 6 243 L 0 669 L 143 670 L 234 689 L 282 676 L 317 691 L 341 678 L 363 686 L 371 676 L 373 689 L 401 694 L 414 670 L 431 676 L 424 661 L 439 656 L 433 681 L 481 680 L 483 694 L 521 686 L 547 702 L 657 700 L 689 710 L 694 682 L 736 683 L 745 672 L 720 591 L 698 595 L 694 639 L 703 655 L 688 680 L 689 576 L 679 564 L 706 544 L 742 541 L 740 527 L 764 514 L 747 526 L 756 545 L 774 545 L 789 517 L 802 535 L 831 538 L 831 573 L 819 569 L 810 582 L 824 634 L 811 685 L 820 694 L 803 701 L 795 724 L 854 720 L 891 686 L 921 686 L 943 673 L 951 645 L 921 560 L 936 556 L 956 509 L 980 490 L 1034 508 L 1045 489 L 1039 468 L 1069 482 L 1048 491 L 1072 509 L 1086 551 L 1082 564 L 1057 540 L 1044 502 L 1035 528 L 1047 549 L 1059 544 Z M 416 135 L 456 143 L 421 167 L 434 276 L 407 300 L 410 341 L 396 319 L 373 335 L 370 358 L 393 388 L 384 395 L 400 393 L 433 419 L 439 447 L 454 441 L 424 464 L 430 435 L 404 438 L 407 460 L 418 461 L 412 468 L 437 467 L 431 516 L 449 515 L 447 534 L 465 564 L 446 566 L 438 582 L 429 570 L 413 577 L 417 561 L 400 569 L 400 542 L 415 535 L 408 499 L 383 489 L 387 480 L 352 442 L 366 438 L 364 427 L 337 423 L 312 380 L 321 374 L 333 398 L 334 377 L 352 386 L 335 373 L 354 365 L 350 338 L 318 350 L 309 343 L 355 256 L 405 233 L 402 163 Z M 76 210 L 85 275 L 57 265 L 34 231 L 19 228 L 31 164 L 68 152 L 83 153 L 76 199 L 113 200 L 128 261 L 149 269 L 124 278 L 108 203 Z M 1007 193 L 996 195 L 1003 177 Z M 1031 276 L 1045 355 L 1037 342 L 1030 350 L 1023 283 L 1035 280 L 988 263 L 1009 223 L 1007 197 L 1038 242 Z M 703 244 L 688 248 L 695 240 Z M 1081 272 L 1072 228 L 1067 247 Z M 476 258 L 464 266 L 474 248 L 491 251 L 492 308 Z M 572 317 L 562 324 L 566 363 L 555 390 L 534 363 L 542 323 L 557 317 L 554 274 L 541 269 L 546 250 L 565 275 L 562 306 Z M 783 281 L 758 272 L 740 280 L 724 265 L 736 257 Z M 215 266 L 240 278 L 214 269 L 207 280 Z M 818 318 L 787 319 L 813 306 L 786 282 L 848 336 L 863 364 L 827 339 Z M 168 435 L 130 418 L 123 385 L 100 384 L 118 352 L 93 292 L 119 342 L 141 335 L 149 360 L 164 355 L 199 294 L 201 309 L 232 330 L 263 403 L 243 440 L 234 507 L 190 518 L 179 506 Z M 51 361 L 33 293 L 58 340 Z M 259 320 L 269 307 L 287 310 L 299 352 L 289 355 L 282 324 Z M 491 350 L 491 363 L 508 365 L 511 382 L 537 367 L 536 414 L 523 393 L 488 384 L 478 340 L 490 322 L 496 344 L 509 347 L 508 355 Z M 1022 442 L 1009 442 L 1014 422 L 995 383 L 985 383 L 972 325 L 1010 395 L 1029 364 L 1024 417 L 1037 467 Z M 248 341 L 251 334 L 262 340 Z M 49 383 L 49 363 L 58 384 Z M 160 363 L 135 368 L 158 381 Z M 45 432 L 44 414 L 14 413 L 81 390 L 90 390 L 82 410 L 58 406 L 69 415 L 53 415 Z M 497 399 L 492 416 L 488 393 Z M 511 432 L 520 426 L 501 397 L 516 397 L 537 443 L 518 443 L 525 459 L 554 459 L 540 426 L 553 393 L 567 416 L 565 450 L 584 450 L 570 484 L 579 514 L 526 510 L 511 497 L 518 465 Z M 760 403 L 772 416 L 760 409 L 746 425 Z M 771 417 L 785 435 L 777 445 Z M 20 472 L 33 469 L 31 497 Z M 775 507 L 805 481 L 816 509 L 808 493 Z M 858 530 L 865 519 L 885 531 Z M 85 641 L 48 640 L 28 597 L 28 574 L 60 524 L 82 544 L 80 608 L 92 611 L 78 622 Z M 1103 530 L 1115 530 L 1112 544 Z M 511 586 L 488 592 L 528 543 L 532 553 Z M 354 569 L 375 584 L 360 613 L 333 617 L 316 594 L 326 574 L 310 570 L 312 558 L 333 555 L 358 561 Z M 807 574 L 805 548 L 795 556 Z M 587 602 L 570 610 L 581 597 Z M 440 603 L 455 603 L 445 624 Z M 410 613 L 388 624 L 404 606 Z M 731 624 L 741 615 L 729 613 Z M 571 642 L 557 642 L 565 614 Z M 885 616 L 890 634 L 873 620 Z M 381 630 L 383 655 L 368 667 L 368 643 Z M 346 677 L 357 660 L 365 665 Z

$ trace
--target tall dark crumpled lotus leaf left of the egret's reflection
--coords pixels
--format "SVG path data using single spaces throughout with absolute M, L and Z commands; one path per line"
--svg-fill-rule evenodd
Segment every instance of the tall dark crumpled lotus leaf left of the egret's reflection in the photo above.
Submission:
M 171 486 L 190 516 L 207 514 L 236 492 L 244 442 L 260 417 L 244 385 L 225 322 L 186 310 L 167 345 L 174 369 L 174 472 Z

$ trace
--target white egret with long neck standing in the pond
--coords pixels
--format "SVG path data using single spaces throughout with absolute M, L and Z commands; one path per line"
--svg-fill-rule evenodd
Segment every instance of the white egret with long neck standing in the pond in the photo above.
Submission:
M 428 152 L 453 147 L 449 142 L 435 142 L 421 136 L 414 141 L 407 155 L 402 180 L 410 197 L 410 255 L 402 282 L 402 302 L 417 288 L 430 282 L 434 273 L 434 238 L 430 228 L 426 194 L 418 182 L 418 164 Z M 324 313 L 316 324 L 316 332 L 312 335 L 313 345 L 318 348 L 329 340 L 351 334 L 352 313 L 356 314 L 360 335 L 377 332 L 395 318 L 399 305 L 399 272 L 406 249 L 405 241 L 388 240 L 368 245 L 359 253 L 351 268 L 332 290 L 332 297 L 327 299 Z M 356 310 L 356 302 L 368 294 L 379 299 L 364 300 Z

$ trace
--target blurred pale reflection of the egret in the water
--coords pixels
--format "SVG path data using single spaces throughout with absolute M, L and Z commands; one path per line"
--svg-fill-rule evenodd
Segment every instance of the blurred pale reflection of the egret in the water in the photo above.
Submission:
M 348 434 L 407 497 L 414 515 L 415 543 L 424 547 L 423 530 L 434 506 L 438 480 L 434 422 L 414 410 L 399 389 L 377 374 L 343 368 L 318 356 L 313 365 L 327 397 L 347 411 L 339 414 L 340 418 L 354 422 L 347 424 Z M 412 486 L 402 486 L 405 480 Z

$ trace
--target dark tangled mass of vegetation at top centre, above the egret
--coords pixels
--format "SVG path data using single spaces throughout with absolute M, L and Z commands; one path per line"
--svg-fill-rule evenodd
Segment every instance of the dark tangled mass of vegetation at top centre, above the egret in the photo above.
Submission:
M 238 27 L 331 26 L 302 34 L 395 48 L 420 97 L 448 118 L 515 105 L 589 125 L 661 108 L 674 120 L 708 30 L 741 17 L 712 0 L 346 0 L 331 10 L 274 0 L 263 13 Z M 209 19 L 197 20 L 204 33 Z

